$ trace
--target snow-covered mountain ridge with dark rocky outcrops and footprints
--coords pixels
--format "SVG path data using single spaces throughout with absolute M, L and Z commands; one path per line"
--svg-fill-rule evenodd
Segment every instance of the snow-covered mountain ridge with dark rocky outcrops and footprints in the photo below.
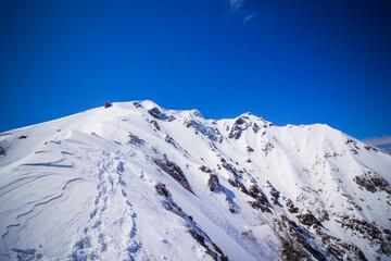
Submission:
M 0 260 L 391 260 L 391 156 L 113 103 L 0 134 Z

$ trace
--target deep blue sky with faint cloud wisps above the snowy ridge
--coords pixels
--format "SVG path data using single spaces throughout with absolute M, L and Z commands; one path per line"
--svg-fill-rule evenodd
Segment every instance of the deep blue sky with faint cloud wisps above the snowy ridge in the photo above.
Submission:
M 0 132 L 106 101 L 391 134 L 383 0 L 0 2 Z

